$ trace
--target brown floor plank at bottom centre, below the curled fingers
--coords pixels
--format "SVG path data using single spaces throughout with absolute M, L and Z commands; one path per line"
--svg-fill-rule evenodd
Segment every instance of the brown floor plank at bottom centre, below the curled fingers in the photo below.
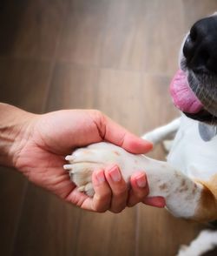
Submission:
M 135 208 L 118 215 L 82 212 L 75 255 L 134 255 L 135 216 Z

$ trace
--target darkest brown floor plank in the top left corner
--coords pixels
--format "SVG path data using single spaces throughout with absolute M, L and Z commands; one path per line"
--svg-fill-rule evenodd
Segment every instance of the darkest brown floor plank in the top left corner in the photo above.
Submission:
M 1 3 L 0 55 L 51 59 L 56 51 L 67 2 L 10 0 Z

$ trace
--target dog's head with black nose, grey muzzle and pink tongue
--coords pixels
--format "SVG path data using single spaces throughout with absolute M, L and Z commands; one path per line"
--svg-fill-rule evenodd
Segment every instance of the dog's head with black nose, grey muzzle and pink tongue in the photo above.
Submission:
M 217 13 L 187 33 L 180 68 L 170 84 L 175 106 L 188 118 L 217 125 Z

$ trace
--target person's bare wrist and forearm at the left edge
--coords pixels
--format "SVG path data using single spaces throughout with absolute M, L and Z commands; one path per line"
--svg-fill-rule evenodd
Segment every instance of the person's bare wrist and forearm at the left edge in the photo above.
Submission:
M 13 166 L 28 139 L 30 114 L 10 104 L 0 103 L 0 165 Z

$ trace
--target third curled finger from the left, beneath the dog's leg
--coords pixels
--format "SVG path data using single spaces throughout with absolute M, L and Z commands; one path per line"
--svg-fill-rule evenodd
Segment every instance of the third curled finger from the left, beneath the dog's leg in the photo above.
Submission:
M 148 181 L 144 172 L 136 172 L 130 178 L 131 189 L 128 197 L 128 206 L 132 207 L 142 202 L 149 192 Z

